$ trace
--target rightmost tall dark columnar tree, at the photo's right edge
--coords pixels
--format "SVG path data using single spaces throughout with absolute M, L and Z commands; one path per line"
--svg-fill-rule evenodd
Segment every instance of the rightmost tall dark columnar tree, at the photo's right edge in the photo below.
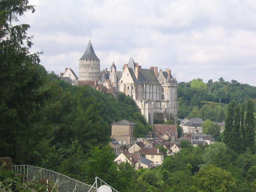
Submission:
M 251 150 L 255 146 L 255 123 L 254 123 L 254 106 L 252 100 L 247 102 L 247 110 L 245 117 L 245 147 L 249 147 Z

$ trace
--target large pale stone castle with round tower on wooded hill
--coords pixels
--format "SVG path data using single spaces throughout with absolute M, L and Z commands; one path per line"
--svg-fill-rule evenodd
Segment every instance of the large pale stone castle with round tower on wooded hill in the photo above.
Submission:
M 177 80 L 171 70 L 158 71 L 157 67 L 143 69 L 130 57 L 122 71 L 113 62 L 110 70 L 100 71 L 100 59 L 96 56 L 91 40 L 79 60 L 78 85 L 89 84 L 102 92 L 124 92 L 135 100 L 149 124 L 173 119 L 177 123 Z

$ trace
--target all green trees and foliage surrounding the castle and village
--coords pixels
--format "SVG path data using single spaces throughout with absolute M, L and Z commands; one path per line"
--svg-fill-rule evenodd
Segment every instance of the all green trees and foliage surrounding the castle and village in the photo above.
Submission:
M 209 119 L 204 132 L 219 134 L 212 121 L 226 115 L 224 141 L 193 147 L 182 141 L 181 151 L 167 156 L 155 169 L 135 172 L 128 163 L 114 161 L 110 124 L 129 119 L 137 123 L 137 136 L 152 127 L 135 102 L 123 93 L 115 99 L 89 86 L 70 86 L 38 64 L 38 53 L 30 54 L 28 25 L 12 26 L 26 11 L 34 12 L 26 0 L 0 1 L 0 156 L 61 172 L 86 181 L 100 177 L 119 192 L 254 192 L 256 189 L 255 88 L 247 84 L 201 79 L 179 84 L 180 117 Z M 27 40 L 27 46 L 24 46 Z M 208 101 L 208 102 L 203 102 Z M 187 107 L 189 106 L 189 107 Z M 188 115 L 189 114 L 189 115 Z M 173 123 L 171 121 L 166 123 Z M 237 132 L 240 134 L 237 134 Z M 239 140 L 238 135 L 240 136 Z M 236 139 L 235 139 L 236 138 Z M 239 147 L 242 143 L 242 148 Z M 160 148 L 164 150 L 164 148 Z M 41 183 L 29 183 L 45 191 Z M 31 191 L 15 173 L 0 167 L 0 191 Z

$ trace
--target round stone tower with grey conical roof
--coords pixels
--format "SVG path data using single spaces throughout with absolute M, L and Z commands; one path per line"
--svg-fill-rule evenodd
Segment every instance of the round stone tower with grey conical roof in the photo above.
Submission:
M 94 53 L 91 39 L 79 60 L 79 81 L 100 79 L 100 60 Z

